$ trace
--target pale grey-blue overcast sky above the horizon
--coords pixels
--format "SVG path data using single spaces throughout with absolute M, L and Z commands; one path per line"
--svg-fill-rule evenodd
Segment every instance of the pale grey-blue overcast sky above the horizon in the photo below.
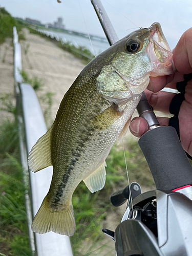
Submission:
M 57 17 L 62 17 L 66 29 L 105 36 L 90 0 L 61 1 L 59 4 L 57 0 L 0 0 L 0 6 L 5 7 L 14 17 L 29 17 L 42 23 L 53 23 Z M 101 2 L 119 39 L 136 27 L 150 27 L 152 23 L 159 22 L 170 48 L 173 49 L 182 33 L 192 27 L 192 0 Z

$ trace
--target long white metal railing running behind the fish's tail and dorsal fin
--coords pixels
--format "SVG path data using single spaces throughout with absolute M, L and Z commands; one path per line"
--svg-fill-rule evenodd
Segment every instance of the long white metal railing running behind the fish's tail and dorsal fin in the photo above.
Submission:
M 24 181 L 26 185 L 30 183 L 30 198 L 26 193 L 26 209 L 31 248 L 37 256 L 73 256 L 69 237 L 54 232 L 38 234 L 31 230 L 32 217 L 35 216 L 50 187 L 52 166 L 40 170 L 38 173 L 32 173 L 28 169 L 27 156 L 36 141 L 47 132 L 47 127 L 35 91 L 30 84 L 22 82 L 19 73 L 19 70 L 22 70 L 22 55 L 15 27 L 13 35 L 20 154 L 24 168 Z

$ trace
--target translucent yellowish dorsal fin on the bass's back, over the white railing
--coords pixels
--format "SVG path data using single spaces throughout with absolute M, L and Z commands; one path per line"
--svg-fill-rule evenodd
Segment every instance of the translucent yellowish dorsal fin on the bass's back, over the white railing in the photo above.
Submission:
M 52 127 L 37 140 L 29 153 L 28 163 L 32 172 L 44 169 L 52 165 L 51 159 L 51 133 Z

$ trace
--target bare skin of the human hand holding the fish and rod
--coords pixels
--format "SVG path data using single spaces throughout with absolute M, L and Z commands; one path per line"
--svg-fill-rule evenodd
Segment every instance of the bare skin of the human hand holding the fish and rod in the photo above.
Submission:
M 181 36 L 173 50 L 173 60 L 177 73 L 168 76 L 151 77 L 145 94 L 154 110 L 169 113 L 169 105 L 175 93 L 161 92 L 164 87 L 176 89 L 176 83 L 183 81 L 183 75 L 192 72 L 192 28 Z M 185 99 L 179 111 L 180 140 L 184 150 L 192 156 L 192 80 L 185 87 Z M 168 125 L 169 118 L 157 117 L 160 125 Z M 130 131 L 136 137 L 141 137 L 148 130 L 144 118 L 135 117 L 130 124 Z

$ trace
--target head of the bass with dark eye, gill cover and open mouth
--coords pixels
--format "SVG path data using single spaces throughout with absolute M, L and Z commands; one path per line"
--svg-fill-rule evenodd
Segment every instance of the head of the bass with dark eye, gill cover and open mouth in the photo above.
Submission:
M 125 104 L 142 94 L 150 76 L 176 72 L 159 23 L 132 32 L 110 48 L 113 57 L 102 68 L 96 84 L 98 93 L 116 104 Z

